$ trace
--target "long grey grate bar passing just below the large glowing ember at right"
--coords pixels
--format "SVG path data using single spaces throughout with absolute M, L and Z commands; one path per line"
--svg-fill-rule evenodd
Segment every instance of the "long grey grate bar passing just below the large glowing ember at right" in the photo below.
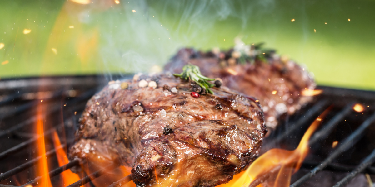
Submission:
M 370 126 L 372 122 L 374 121 L 375 121 L 375 113 L 372 114 L 371 117 L 366 119 L 365 122 L 363 122 L 362 125 L 359 126 L 359 128 L 357 128 L 356 131 L 353 132 L 353 134 L 351 134 L 348 138 L 346 138 L 345 141 L 342 142 L 340 146 L 335 151 L 333 151 L 332 154 L 330 154 L 329 157 L 327 157 L 322 163 L 320 163 L 320 165 L 318 165 L 317 167 L 312 169 L 310 172 L 308 172 L 306 175 L 304 175 L 302 178 L 294 182 L 290 187 L 301 186 L 303 183 L 308 181 L 312 176 L 314 176 L 315 174 L 323 170 L 329 163 L 332 162 L 333 159 L 338 157 L 341 153 L 344 153 L 344 151 L 348 150 L 348 148 L 350 148 L 352 145 L 352 141 L 356 137 L 359 137 L 362 134 L 362 132 L 365 131 L 365 129 L 368 128 L 368 126 Z

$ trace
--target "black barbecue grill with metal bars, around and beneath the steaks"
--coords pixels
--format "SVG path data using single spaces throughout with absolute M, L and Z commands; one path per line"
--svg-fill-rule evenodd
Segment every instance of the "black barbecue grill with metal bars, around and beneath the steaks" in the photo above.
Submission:
M 87 100 L 108 81 L 132 76 L 71 76 L 8 79 L 0 82 L 0 187 L 36 186 L 41 176 L 35 174 L 36 163 L 42 158 L 35 154 L 35 142 L 39 138 L 33 133 L 36 114 L 34 108 L 43 102 L 48 110 L 43 114 L 45 123 L 46 157 L 49 161 L 49 177 L 52 184 L 59 183 L 59 174 L 78 166 L 71 160 L 58 166 L 56 149 L 49 142 L 51 132 L 62 137 L 62 147 L 67 149 L 74 142 L 78 119 Z M 40 88 L 43 88 L 42 90 Z M 285 114 L 279 126 L 264 140 L 262 151 L 270 148 L 294 149 L 302 135 L 315 118 L 331 106 L 329 115 L 310 139 L 311 151 L 300 169 L 293 175 L 291 187 L 306 186 L 316 180 L 319 172 L 340 176 L 331 181 L 335 187 L 345 186 L 358 174 L 372 177 L 375 167 L 375 92 L 318 86 L 323 93 L 314 98 L 296 114 Z M 363 111 L 353 110 L 361 104 Z M 293 140 L 293 141 L 291 141 Z M 333 142 L 337 146 L 333 145 Z M 84 184 L 95 186 L 91 181 L 105 175 L 104 169 L 80 174 L 81 179 L 69 187 Z M 267 177 L 267 176 L 266 176 Z M 321 176 L 320 176 L 321 177 Z M 264 178 L 263 178 L 264 179 Z M 128 175 L 113 181 L 110 187 L 118 187 L 131 180 Z M 371 179 L 369 178 L 369 181 Z M 261 180 L 254 181 L 257 186 Z M 61 185 L 60 185 L 61 186 Z M 332 185 L 333 186 L 333 185 Z

